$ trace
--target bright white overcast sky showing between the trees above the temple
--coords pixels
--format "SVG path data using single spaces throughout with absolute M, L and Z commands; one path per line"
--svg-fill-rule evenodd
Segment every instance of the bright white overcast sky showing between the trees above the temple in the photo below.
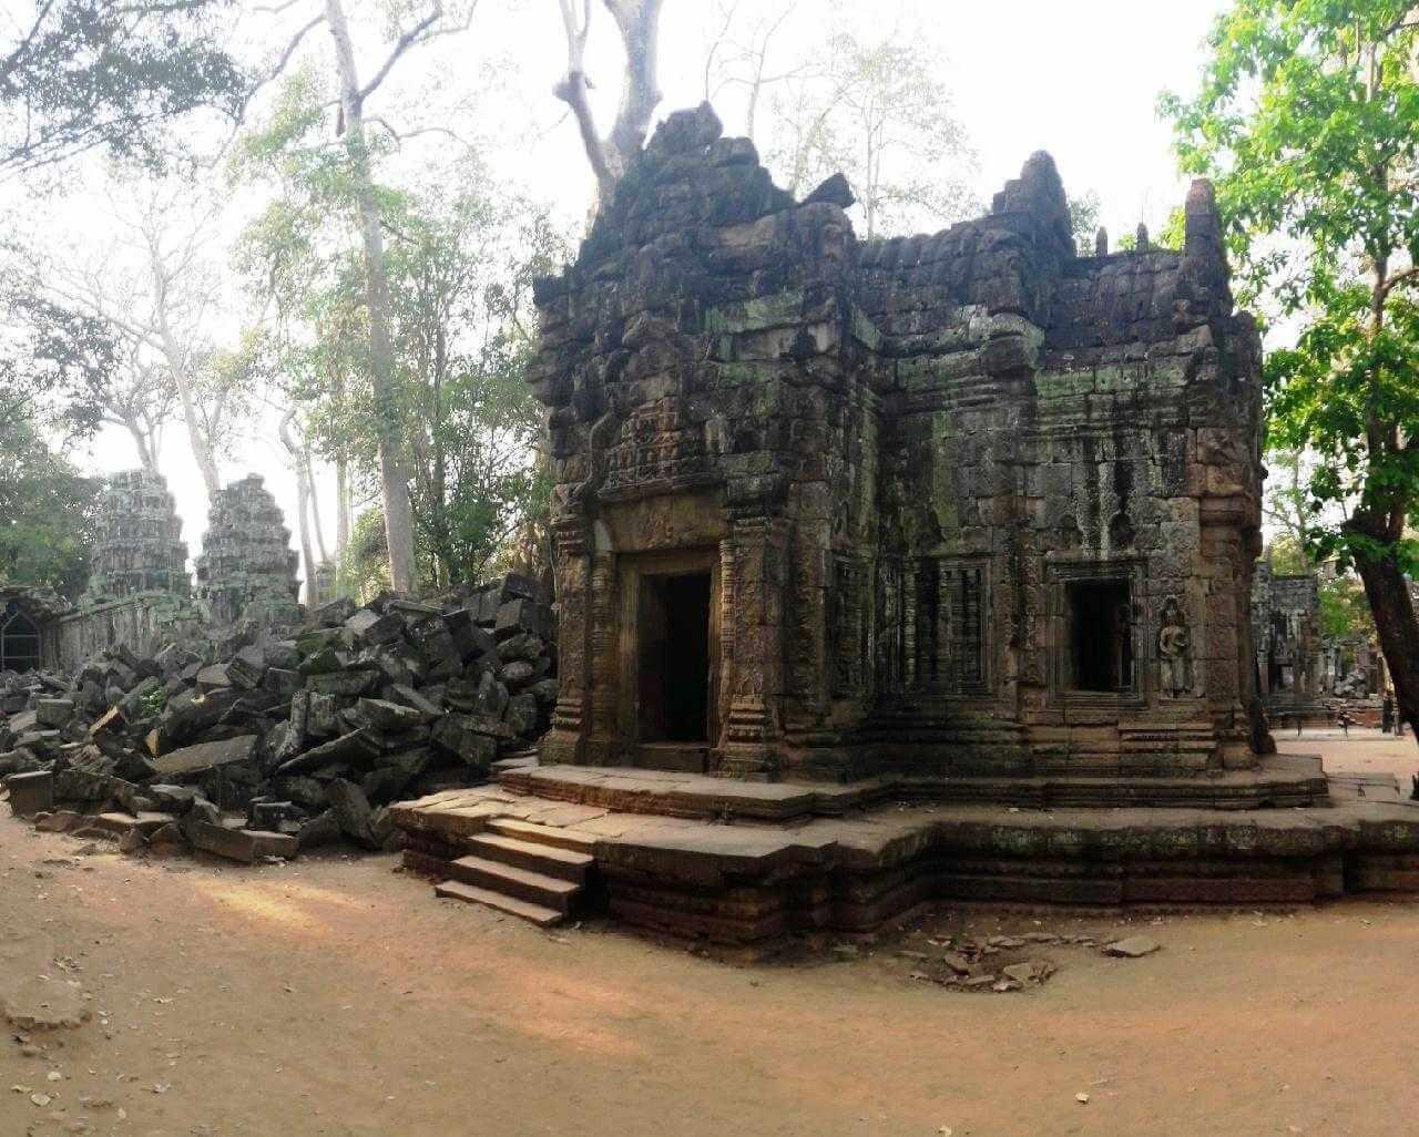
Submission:
M 314 6 L 314 0 L 308 3 Z M 897 20 L 917 28 L 939 52 L 941 75 L 979 153 L 975 181 L 982 200 L 989 201 L 1006 179 L 1016 176 L 1030 153 L 1044 149 L 1054 156 L 1069 191 L 1093 190 L 1100 196 L 1101 220 L 1111 234 L 1132 231 L 1139 220 L 1156 227 L 1182 203 L 1186 186 L 1176 176 L 1169 132 L 1156 121 L 1154 106 L 1164 88 L 1193 88 L 1199 44 L 1222 10 L 1222 0 L 837 4 L 867 33 Z M 369 0 L 349 3 L 352 16 L 362 10 L 368 14 L 370 7 Z M 587 69 L 599 81 L 600 98 L 610 103 L 617 96 L 619 62 L 606 13 L 596 7 Z M 704 11 L 702 0 L 666 0 L 661 113 L 695 105 L 702 96 Z M 291 18 L 299 18 L 299 13 Z M 802 34 L 812 30 L 810 17 Z M 280 28 L 272 27 L 268 40 L 272 48 L 280 44 Z M 360 47 L 369 69 L 382 57 L 373 26 L 363 28 Z M 305 48 L 309 58 L 329 64 L 329 37 L 324 31 L 307 37 Z M 430 118 L 450 115 L 464 136 L 487 139 L 492 169 L 551 201 L 570 228 L 585 217 L 592 179 L 576 130 L 551 95 L 565 65 L 556 0 L 481 0 L 468 31 L 443 41 L 436 51 L 407 57 L 396 84 L 382 98 L 403 125 L 420 125 L 419 106 L 436 103 L 440 109 Z M 498 84 L 495 95 L 487 94 L 490 81 Z M 719 109 L 728 130 L 738 132 L 742 112 L 732 103 Z M 607 109 L 603 122 L 609 118 Z M 450 146 L 447 139 L 427 145 Z M 226 218 L 231 233 L 244 210 L 255 204 L 233 200 Z M 51 206 L 51 224 L 79 234 L 79 240 L 91 240 L 95 227 L 106 224 L 102 206 L 92 197 Z M 220 261 L 223 250 L 214 250 L 214 257 Z M 236 295 L 231 305 L 233 310 L 219 318 L 216 335 L 234 340 L 241 323 Z M 226 476 L 234 481 L 248 471 L 265 475 L 294 522 L 294 479 L 281 468 L 268 424 L 248 424 L 245 434 L 240 452 L 226 464 Z M 118 431 L 101 437 L 87 462 L 94 472 L 135 465 L 132 447 Z M 196 554 L 206 529 L 206 499 L 177 424 L 167 428 L 162 468 L 177 496 L 189 550 Z M 322 485 L 322 513 L 332 529 L 329 482 Z M 328 539 L 333 540 L 333 533 Z

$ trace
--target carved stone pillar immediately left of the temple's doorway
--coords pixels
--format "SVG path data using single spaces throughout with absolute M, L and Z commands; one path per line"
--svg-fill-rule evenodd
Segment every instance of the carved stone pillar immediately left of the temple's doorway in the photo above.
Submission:
M 556 706 L 552 729 L 542 737 L 548 766 L 585 760 L 589 726 L 587 615 L 592 590 L 592 557 L 580 519 L 556 525 Z

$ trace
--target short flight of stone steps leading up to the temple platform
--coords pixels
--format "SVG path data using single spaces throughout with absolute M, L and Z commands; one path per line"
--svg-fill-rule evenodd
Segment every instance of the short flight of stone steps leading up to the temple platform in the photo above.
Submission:
M 464 844 L 468 855 L 446 863 L 448 879 L 434 893 L 487 904 L 538 927 L 573 913 L 596 865 L 589 838 L 514 818 L 491 818 L 485 832 Z

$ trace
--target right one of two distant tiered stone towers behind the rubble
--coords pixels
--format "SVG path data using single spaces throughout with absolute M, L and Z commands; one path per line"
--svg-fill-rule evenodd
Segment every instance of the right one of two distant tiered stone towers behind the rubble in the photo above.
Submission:
M 211 622 L 301 622 L 299 561 L 291 549 L 291 530 L 260 475 L 248 474 L 217 492 L 201 550 L 197 598 Z

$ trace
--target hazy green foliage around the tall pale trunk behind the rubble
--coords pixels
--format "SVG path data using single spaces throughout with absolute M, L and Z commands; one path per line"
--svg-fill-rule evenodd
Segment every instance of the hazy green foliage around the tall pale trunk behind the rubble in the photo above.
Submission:
M 325 145 L 321 99 L 312 75 L 294 77 L 233 164 L 233 177 L 280 190 L 237 258 L 280 313 L 265 366 L 301 407 L 316 451 L 366 485 L 396 424 L 421 583 L 477 578 L 545 496 L 534 461 L 541 415 L 526 384 L 531 293 L 566 242 L 543 210 L 470 160 L 421 193 L 377 187 L 394 369 L 389 397 L 376 398 L 356 186 L 346 152 Z M 370 563 L 353 570 L 352 587 L 373 580 Z

